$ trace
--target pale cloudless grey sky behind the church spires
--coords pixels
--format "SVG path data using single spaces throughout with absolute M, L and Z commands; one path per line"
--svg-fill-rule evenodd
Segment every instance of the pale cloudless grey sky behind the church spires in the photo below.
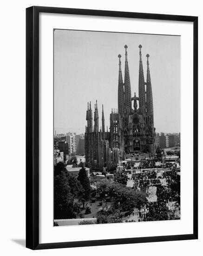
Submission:
M 128 46 L 131 95 L 138 96 L 139 48 L 144 79 L 149 54 L 156 132 L 180 132 L 180 36 L 54 30 L 54 130 L 85 133 L 87 102 L 98 100 L 99 126 L 118 108 L 118 54 L 124 80 Z M 93 113 L 94 115 L 94 113 Z

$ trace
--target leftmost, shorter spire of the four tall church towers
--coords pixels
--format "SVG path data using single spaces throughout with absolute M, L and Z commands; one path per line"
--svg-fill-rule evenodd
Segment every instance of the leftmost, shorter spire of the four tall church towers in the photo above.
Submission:
M 124 84 L 123 84 L 123 77 L 122 77 L 122 71 L 121 71 L 121 55 L 118 54 L 119 58 L 119 72 L 118 72 L 118 113 L 123 114 L 124 113 Z

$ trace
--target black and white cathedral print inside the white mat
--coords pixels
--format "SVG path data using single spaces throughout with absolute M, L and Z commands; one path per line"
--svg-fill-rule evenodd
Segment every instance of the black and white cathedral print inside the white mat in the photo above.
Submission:
M 180 220 L 180 36 L 54 29 L 54 226 Z

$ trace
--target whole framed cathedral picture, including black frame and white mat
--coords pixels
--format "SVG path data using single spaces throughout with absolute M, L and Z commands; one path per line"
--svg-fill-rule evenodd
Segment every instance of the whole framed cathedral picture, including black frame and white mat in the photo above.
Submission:
M 26 9 L 26 247 L 197 239 L 197 17 Z

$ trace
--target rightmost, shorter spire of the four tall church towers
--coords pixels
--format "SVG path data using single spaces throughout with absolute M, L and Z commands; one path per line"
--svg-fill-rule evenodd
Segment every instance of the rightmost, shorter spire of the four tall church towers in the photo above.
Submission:
M 146 82 L 146 109 L 147 109 L 147 123 L 154 126 L 154 110 L 153 110 L 153 97 L 151 88 L 151 77 L 150 77 L 150 64 L 149 57 L 147 54 L 147 82 Z

